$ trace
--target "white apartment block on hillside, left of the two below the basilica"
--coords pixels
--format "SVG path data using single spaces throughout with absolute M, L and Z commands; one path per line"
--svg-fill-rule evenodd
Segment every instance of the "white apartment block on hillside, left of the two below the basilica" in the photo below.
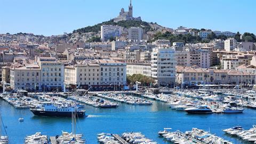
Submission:
M 103 25 L 101 28 L 101 39 L 102 42 L 107 42 L 110 38 L 119 37 L 122 34 L 122 27 L 119 26 L 106 26 Z

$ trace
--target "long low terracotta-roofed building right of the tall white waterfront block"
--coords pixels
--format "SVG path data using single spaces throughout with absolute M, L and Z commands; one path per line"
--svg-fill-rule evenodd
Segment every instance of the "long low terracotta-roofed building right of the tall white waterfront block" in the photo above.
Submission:
M 177 66 L 177 83 L 185 85 L 197 84 L 248 84 L 254 83 L 254 74 L 223 69 L 203 69 Z

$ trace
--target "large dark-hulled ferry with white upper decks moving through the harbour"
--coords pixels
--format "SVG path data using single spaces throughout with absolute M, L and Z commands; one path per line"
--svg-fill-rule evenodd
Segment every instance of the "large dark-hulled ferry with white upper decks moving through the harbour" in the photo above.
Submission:
M 71 117 L 74 112 L 77 113 L 78 117 L 85 116 L 85 110 L 80 110 L 78 107 L 71 106 L 71 103 L 57 105 L 52 102 L 42 102 L 36 107 L 31 107 L 30 111 L 37 116 Z

